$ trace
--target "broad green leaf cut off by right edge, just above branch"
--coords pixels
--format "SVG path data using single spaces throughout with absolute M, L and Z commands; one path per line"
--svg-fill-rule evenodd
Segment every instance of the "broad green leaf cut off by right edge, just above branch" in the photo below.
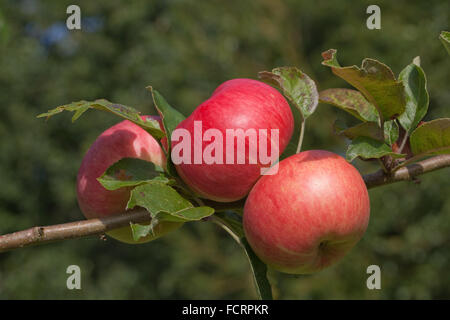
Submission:
M 410 136 L 414 155 L 437 155 L 450 153 L 450 118 L 424 122 Z

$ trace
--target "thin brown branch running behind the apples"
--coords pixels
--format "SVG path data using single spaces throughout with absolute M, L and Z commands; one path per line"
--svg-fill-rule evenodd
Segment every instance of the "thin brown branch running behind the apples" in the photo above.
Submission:
M 450 155 L 435 156 L 414 164 L 410 164 L 387 175 L 383 170 L 364 175 L 368 189 L 391 184 L 399 181 L 413 180 L 415 177 L 450 166 Z M 218 210 L 242 207 L 244 200 L 230 203 L 215 203 L 205 201 L 206 205 Z M 89 219 L 52 226 L 40 226 L 0 236 L 0 253 L 12 249 L 28 247 L 36 244 L 54 242 L 58 240 L 76 239 L 105 232 L 130 223 L 150 222 L 151 217 L 146 210 L 139 209 L 112 217 Z

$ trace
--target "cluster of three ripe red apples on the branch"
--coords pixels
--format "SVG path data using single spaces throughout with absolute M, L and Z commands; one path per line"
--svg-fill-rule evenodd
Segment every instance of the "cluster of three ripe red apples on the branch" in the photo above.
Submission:
M 203 130 L 213 129 L 223 137 L 227 130 L 254 130 L 264 146 L 273 146 L 274 136 L 261 136 L 261 132 L 276 130 L 279 154 L 286 149 L 294 131 L 294 117 L 283 95 L 251 79 L 226 81 L 176 129 L 198 139 L 194 132 L 197 123 L 202 124 Z M 192 152 L 184 157 L 194 157 L 198 151 L 195 148 L 203 152 L 214 142 L 214 138 L 200 139 L 200 143 L 189 144 Z M 180 142 L 172 135 L 172 149 L 177 149 Z M 167 147 L 167 143 L 163 144 Z M 238 145 L 232 144 L 236 158 L 242 152 Z M 338 261 L 361 239 L 369 221 L 369 196 L 361 175 L 350 163 L 332 152 L 309 150 L 273 165 L 251 161 L 249 139 L 244 140 L 244 145 L 244 163 L 226 161 L 230 149 L 223 143 L 212 152 L 216 159 L 218 154 L 223 157 L 223 161 L 198 163 L 192 159 L 175 163 L 175 168 L 197 197 L 216 202 L 246 198 L 245 236 L 263 262 L 286 273 L 312 273 Z M 260 148 L 258 145 L 257 154 Z M 271 151 L 274 152 L 273 147 Z M 138 125 L 125 120 L 103 132 L 85 155 L 77 178 L 78 202 L 87 218 L 125 211 L 131 190 L 106 190 L 97 181 L 122 158 L 139 158 L 162 168 L 167 164 L 160 143 Z M 267 174 L 262 175 L 261 169 L 267 169 Z M 181 225 L 161 221 L 152 235 L 139 242 L 153 240 Z M 136 243 L 129 227 L 108 234 Z

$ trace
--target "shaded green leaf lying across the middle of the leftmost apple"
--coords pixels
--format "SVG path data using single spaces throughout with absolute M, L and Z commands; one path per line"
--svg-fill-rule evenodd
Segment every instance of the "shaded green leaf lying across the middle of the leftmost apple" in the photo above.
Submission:
M 135 187 L 149 181 L 170 182 L 164 170 L 153 162 L 136 158 L 123 158 L 110 166 L 97 180 L 107 190 Z

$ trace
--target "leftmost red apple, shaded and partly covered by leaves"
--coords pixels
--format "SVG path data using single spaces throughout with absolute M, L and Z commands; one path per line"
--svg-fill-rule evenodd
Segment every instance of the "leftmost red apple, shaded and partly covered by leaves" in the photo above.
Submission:
M 151 117 L 159 120 L 158 117 Z M 97 181 L 106 169 L 122 158 L 139 158 L 165 167 L 166 157 L 158 142 L 144 129 L 131 121 L 122 121 L 104 131 L 83 158 L 77 177 L 78 204 L 88 219 L 124 213 L 131 188 L 106 190 Z M 107 234 L 126 243 L 153 240 L 181 224 L 161 222 L 153 236 L 134 241 L 130 227 L 109 231 Z

